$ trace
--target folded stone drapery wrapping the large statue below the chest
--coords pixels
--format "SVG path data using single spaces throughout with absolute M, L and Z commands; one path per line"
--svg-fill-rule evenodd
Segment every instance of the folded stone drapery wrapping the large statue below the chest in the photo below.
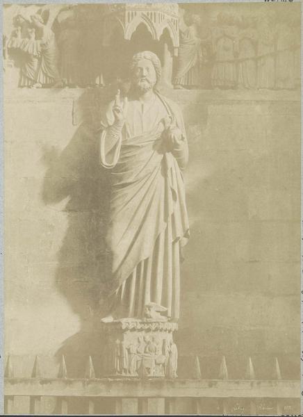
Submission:
M 174 113 L 184 133 L 180 114 Z M 109 128 L 110 129 L 110 128 Z M 112 168 L 107 247 L 111 253 L 114 304 L 140 316 L 149 301 L 179 316 L 180 250 L 188 239 L 183 177 L 163 147 L 163 124 L 141 136 L 117 136 L 110 161 L 101 134 L 101 163 Z

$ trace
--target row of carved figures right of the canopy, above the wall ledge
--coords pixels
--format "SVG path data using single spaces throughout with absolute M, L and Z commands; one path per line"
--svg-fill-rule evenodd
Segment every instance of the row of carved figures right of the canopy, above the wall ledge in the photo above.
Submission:
M 201 88 L 207 83 L 220 89 L 295 88 L 296 76 L 300 79 L 300 38 L 289 22 L 274 26 L 264 19 L 235 19 L 221 13 L 202 39 L 199 15 L 188 20 L 180 25 L 175 88 Z

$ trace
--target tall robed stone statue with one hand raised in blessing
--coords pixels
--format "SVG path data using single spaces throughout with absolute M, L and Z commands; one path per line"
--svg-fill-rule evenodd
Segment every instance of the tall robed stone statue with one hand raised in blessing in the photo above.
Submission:
M 179 106 L 160 95 L 158 57 L 144 51 L 131 61 L 131 89 L 118 90 L 104 115 L 101 165 L 111 170 L 108 316 L 142 318 L 159 304 L 179 318 L 181 248 L 189 237 L 182 171 L 188 142 Z

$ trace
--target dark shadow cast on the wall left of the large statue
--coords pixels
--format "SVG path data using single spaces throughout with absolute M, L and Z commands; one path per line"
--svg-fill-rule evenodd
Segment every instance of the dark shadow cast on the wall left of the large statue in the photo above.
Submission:
M 94 95 L 89 90 L 84 92 L 78 100 L 79 106 L 85 106 Z M 62 152 L 54 147 L 44 149 L 48 169 L 43 202 L 48 206 L 63 204 L 60 209 L 67 219 L 65 237 L 57 254 L 56 288 L 81 321 L 79 332 L 67 338 L 56 352 L 59 361 L 65 355 L 69 377 L 83 377 L 88 356 L 101 354 L 101 335 L 97 329 L 106 270 L 110 172 L 99 163 L 96 128 L 96 117 L 86 117 Z M 96 359 L 97 368 L 98 363 Z

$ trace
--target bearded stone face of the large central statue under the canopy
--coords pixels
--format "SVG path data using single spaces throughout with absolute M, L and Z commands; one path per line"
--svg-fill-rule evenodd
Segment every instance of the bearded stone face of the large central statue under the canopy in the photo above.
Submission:
M 156 70 L 149 59 L 142 59 L 133 68 L 133 85 L 139 92 L 147 92 L 156 84 Z

